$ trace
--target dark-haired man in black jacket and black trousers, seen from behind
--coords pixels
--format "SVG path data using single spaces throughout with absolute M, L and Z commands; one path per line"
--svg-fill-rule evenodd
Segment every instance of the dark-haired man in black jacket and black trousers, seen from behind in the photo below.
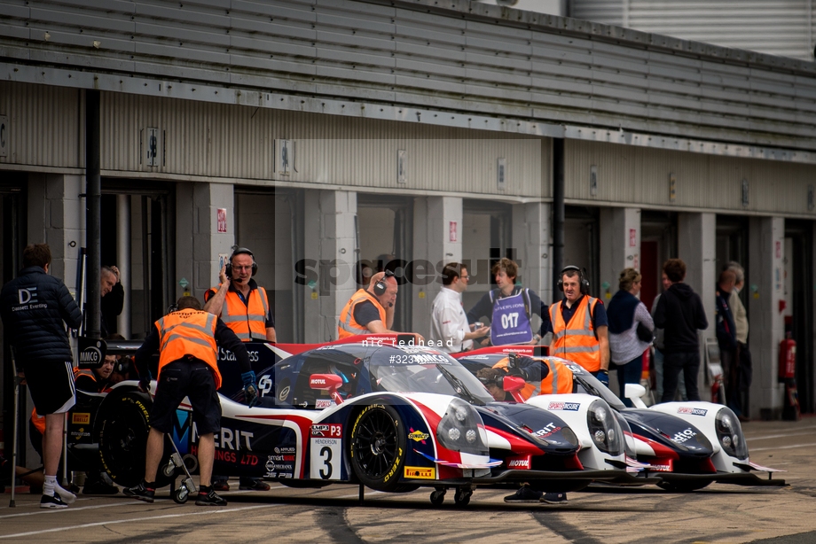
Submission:
M 655 308 L 655 327 L 664 330 L 665 346 L 663 361 L 663 398 L 661 402 L 674 400 L 680 370 L 686 380 L 688 400 L 700 400 L 697 390 L 697 372 L 700 369 L 700 342 L 697 330 L 705 330 L 709 322 L 705 318 L 702 300 L 687 284 L 686 263 L 670 259 L 663 264 L 663 272 L 671 286 Z

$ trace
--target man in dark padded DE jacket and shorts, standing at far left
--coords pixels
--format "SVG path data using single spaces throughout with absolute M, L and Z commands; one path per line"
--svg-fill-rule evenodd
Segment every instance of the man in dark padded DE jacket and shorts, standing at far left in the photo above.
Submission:
M 73 354 L 65 323 L 78 328 L 82 313 L 65 284 L 48 276 L 51 249 L 47 244 L 28 245 L 23 251 L 20 276 L 0 291 L 0 316 L 6 338 L 17 354 L 20 372 L 37 413 L 45 416 L 43 464 L 45 484 L 40 508 L 67 508 L 76 500 L 57 484 L 65 413 L 74 406 Z

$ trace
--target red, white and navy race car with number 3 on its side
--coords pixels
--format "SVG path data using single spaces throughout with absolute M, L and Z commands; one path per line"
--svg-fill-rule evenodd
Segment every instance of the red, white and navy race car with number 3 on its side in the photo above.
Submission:
M 475 486 L 529 482 L 569 491 L 595 480 L 640 482 L 626 470 L 623 431 L 602 400 L 592 398 L 603 409 L 585 414 L 607 437 L 608 453 L 585 466 L 582 445 L 560 416 L 494 402 L 467 369 L 435 349 L 374 339 L 302 352 L 293 346 L 286 349 L 299 353 L 259 346 L 282 358 L 259 373 L 260 406 L 243 405 L 241 392 L 221 397 L 216 473 L 296 487 L 347 483 L 399 493 L 429 486 L 434 504 L 452 488 L 459 505 L 470 501 Z M 522 385 L 509 379 L 506 388 Z M 99 451 L 114 482 L 129 486 L 144 466 L 137 454 L 150 397 L 121 388 L 109 395 L 115 401 Z M 179 408 L 171 436 L 182 455 L 194 454 L 197 442 L 190 409 Z M 166 474 L 172 476 L 172 467 Z

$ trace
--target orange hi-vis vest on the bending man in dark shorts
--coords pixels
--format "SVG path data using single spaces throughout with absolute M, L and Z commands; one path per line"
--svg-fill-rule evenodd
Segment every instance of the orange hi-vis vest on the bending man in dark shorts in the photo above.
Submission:
M 165 365 L 186 355 L 200 359 L 213 369 L 216 389 L 221 387 L 221 372 L 216 361 L 215 315 L 184 309 L 165 315 L 156 323 L 159 330 L 159 377 Z

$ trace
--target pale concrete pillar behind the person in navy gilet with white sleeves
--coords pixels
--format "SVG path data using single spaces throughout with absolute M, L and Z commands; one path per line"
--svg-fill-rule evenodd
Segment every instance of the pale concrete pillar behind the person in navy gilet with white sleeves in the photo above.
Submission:
M 600 286 L 597 291 L 605 304 L 617 292 L 624 268 L 640 268 L 639 208 L 600 210 Z

